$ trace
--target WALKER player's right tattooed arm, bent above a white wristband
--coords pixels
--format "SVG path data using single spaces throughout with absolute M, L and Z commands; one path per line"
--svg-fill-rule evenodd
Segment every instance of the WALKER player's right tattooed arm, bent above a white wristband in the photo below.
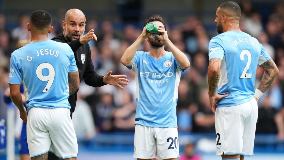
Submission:
M 268 61 L 264 62 L 260 65 L 260 67 L 263 68 L 265 72 L 263 73 L 262 79 L 257 88 L 262 93 L 264 93 L 271 86 L 273 80 L 275 79 L 279 71 L 272 59 L 269 59 Z

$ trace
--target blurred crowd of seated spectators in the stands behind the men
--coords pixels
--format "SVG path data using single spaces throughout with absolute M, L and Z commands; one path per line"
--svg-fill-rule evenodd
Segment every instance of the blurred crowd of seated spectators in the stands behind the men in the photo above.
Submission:
M 251 34 L 262 43 L 276 62 L 279 74 L 271 87 L 259 99 L 259 116 L 256 133 L 275 133 L 284 140 L 284 6 L 277 4 L 271 14 L 263 14 L 251 1 L 242 1 L 241 30 Z M 63 15 L 53 17 L 53 31 L 49 38 L 63 32 Z M 60 17 L 59 17 L 60 16 Z M 6 15 L 0 13 L 0 96 L 8 87 L 10 55 L 19 41 L 30 38 L 26 29 L 29 15 L 20 15 L 18 27 L 5 28 Z M 212 19 L 214 23 L 214 19 Z M 136 111 L 136 83 L 134 72 L 120 63 L 123 52 L 142 32 L 141 27 L 127 23 L 123 29 L 115 29 L 111 21 L 86 20 L 86 33 L 95 30 L 98 41 L 90 41 L 94 69 L 100 75 L 112 71 L 113 75 L 127 75 L 129 83 L 124 90 L 111 85 L 89 87 L 84 82 L 78 92 L 76 110 L 73 114 L 77 136 L 91 139 L 100 132 L 134 132 Z M 191 67 L 182 73 L 178 88 L 177 122 L 180 132 L 215 133 L 214 114 L 210 108 L 207 85 L 208 44 L 212 36 L 198 15 L 189 15 L 186 22 L 167 27 L 170 40 L 184 52 Z M 216 33 L 217 35 L 217 33 Z M 149 51 L 147 41 L 139 50 Z M 165 47 L 166 48 L 166 47 Z M 167 50 L 167 48 L 166 48 Z M 264 70 L 258 67 L 255 87 Z M 7 119 L 7 105 L 0 98 L 0 119 Z M 16 110 L 15 110 L 16 112 Z M 15 113 L 19 117 L 18 113 Z

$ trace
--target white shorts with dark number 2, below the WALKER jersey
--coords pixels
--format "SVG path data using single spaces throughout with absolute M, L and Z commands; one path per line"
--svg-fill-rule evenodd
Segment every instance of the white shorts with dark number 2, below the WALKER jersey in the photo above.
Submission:
M 258 105 L 250 101 L 231 107 L 217 107 L 215 112 L 216 154 L 253 156 Z

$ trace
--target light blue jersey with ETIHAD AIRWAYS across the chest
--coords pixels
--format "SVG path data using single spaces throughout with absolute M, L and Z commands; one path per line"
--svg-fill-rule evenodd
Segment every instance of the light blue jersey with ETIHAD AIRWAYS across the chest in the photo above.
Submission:
M 137 51 L 132 67 L 136 80 L 135 124 L 177 128 L 177 88 L 180 68 L 171 52 L 155 59 L 149 52 Z

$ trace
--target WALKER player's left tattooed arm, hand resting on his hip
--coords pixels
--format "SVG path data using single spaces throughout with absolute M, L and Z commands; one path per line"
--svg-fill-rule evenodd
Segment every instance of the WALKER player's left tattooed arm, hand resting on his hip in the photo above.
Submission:
M 213 113 L 216 111 L 217 102 L 223 98 L 228 96 L 229 94 L 216 94 L 216 88 L 220 78 L 220 66 L 222 60 L 219 58 L 212 58 L 209 61 L 208 66 L 208 95 L 210 99 L 210 106 Z

